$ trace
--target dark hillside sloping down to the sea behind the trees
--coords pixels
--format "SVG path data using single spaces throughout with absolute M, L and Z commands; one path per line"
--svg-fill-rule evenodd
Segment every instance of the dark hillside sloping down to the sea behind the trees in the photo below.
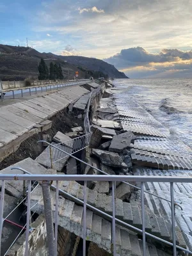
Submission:
M 92 71 L 95 76 L 102 76 L 103 73 L 110 78 L 127 78 L 113 65 L 95 58 L 58 56 L 51 52 L 41 53 L 30 47 L 0 44 L 0 80 L 24 80 L 29 76 L 36 79 L 40 58 L 44 58 L 47 66 L 51 61 L 60 63 L 65 79 L 73 79 L 76 71 L 79 71 L 79 78 L 90 77 Z

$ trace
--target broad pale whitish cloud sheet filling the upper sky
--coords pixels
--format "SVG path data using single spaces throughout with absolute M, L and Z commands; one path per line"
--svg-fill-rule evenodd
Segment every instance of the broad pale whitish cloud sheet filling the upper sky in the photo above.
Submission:
M 102 59 L 136 45 L 152 53 L 191 49 L 191 13 L 188 0 L 54 0 L 33 24 L 35 32 L 54 33 L 84 56 Z

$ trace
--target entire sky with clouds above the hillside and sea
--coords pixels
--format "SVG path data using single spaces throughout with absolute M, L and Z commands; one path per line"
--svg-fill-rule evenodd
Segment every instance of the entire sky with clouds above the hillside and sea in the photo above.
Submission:
M 129 77 L 192 77 L 192 0 L 0 0 L 0 44 L 99 58 Z

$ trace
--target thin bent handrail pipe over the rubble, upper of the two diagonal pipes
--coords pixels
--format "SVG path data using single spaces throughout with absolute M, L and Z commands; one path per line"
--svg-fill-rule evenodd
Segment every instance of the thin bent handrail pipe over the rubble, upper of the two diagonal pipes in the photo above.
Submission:
M 51 143 L 49 143 L 49 142 L 47 142 L 47 141 L 44 141 L 44 140 L 40 140 L 40 141 L 38 141 L 38 142 L 47 143 L 47 145 L 49 145 L 50 147 L 57 148 L 55 145 L 52 145 Z M 65 152 L 64 150 L 61 150 L 60 148 L 57 148 L 57 149 L 60 150 L 61 152 L 65 153 L 65 154 L 67 154 L 68 156 L 73 157 L 73 158 L 76 159 L 77 161 L 79 161 L 79 162 L 81 162 L 81 163 L 83 163 L 83 164 L 86 164 L 87 166 L 90 166 L 91 168 L 97 170 L 98 172 L 104 173 L 105 175 L 109 175 L 108 173 L 106 173 L 106 172 L 100 170 L 99 168 L 97 168 L 97 167 L 95 167 L 95 166 L 92 166 L 92 165 L 89 164 L 89 163 L 84 162 L 83 160 L 81 160 L 81 159 L 79 159 L 79 158 L 73 156 L 72 154 L 70 154 L 70 153 L 68 153 L 68 152 Z M 109 176 L 111 176 L 111 175 L 109 175 Z M 128 183 L 128 182 L 122 181 L 122 183 L 125 183 L 125 184 L 131 186 L 132 188 L 136 188 L 136 189 L 141 190 L 141 188 L 139 188 L 138 186 L 134 186 L 134 185 L 132 185 L 132 184 L 130 184 L 130 183 Z M 168 199 L 166 199 L 166 198 L 163 198 L 163 197 L 161 197 L 161 196 L 159 196 L 159 195 L 156 195 L 156 194 L 151 193 L 151 192 L 146 191 L 146 190 L 144 190 L 144 192 L 145 192 L 145 193 L 148 193 L 149 195 L 156 196 L 156 197 L 158 197 L 158 198 L 161 198 L 162 200 L 165 200 L 165 201 L 171 203 L 171 200 L 168 200 Z M 180 205 L 177 204 L 176 202 L 174 202 L 174 204 L 180 207 Z M 180 209 L 182 209 L 182 207 L 180 207 Z

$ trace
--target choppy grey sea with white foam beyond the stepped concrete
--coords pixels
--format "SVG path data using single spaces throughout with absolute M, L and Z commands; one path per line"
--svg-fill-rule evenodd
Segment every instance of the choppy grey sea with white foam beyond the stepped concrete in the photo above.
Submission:
M 192 148 L 192 79 L 115 79 L 113 84 Z

